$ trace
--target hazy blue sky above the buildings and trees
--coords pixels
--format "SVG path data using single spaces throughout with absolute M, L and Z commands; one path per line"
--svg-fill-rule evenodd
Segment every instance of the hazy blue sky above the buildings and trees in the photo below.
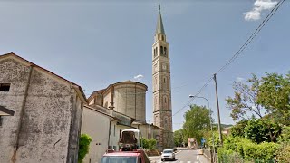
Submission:
M 0 53 L 14 52 L 92 91 L 122 81 L 148 85 L 146 119 L 152 119 L 151 47 L 158 5 L 171 64 L 173 129 L 180 129 L 196 94 L 247 41 L 275 0 L 0 0 Z M 232 84 L 255 73 L 289 68 L 290 3 L 285 1 L 246 50 L 218 73 L 221 122 L 235 124 L 225 99 Z M 135 78 L 134 78 L 135 77 Z M 214 82 L 199 96 L 218 121 Z M 196 99 L 192 104 L 207 105 Z M 182 109 L 182 110 L 181 110 Z

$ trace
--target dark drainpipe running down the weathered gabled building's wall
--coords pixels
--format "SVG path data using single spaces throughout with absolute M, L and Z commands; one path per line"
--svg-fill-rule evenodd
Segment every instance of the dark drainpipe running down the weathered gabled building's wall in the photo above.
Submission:
M 34 69 L 33 65 L 30 65 L 29 66 L 29 75 L 28 75 L 27 83 L 26 83 L 25 90 L 24 90 L 24 100 L 22 101 L 22 106 L 21 106 L 21 110 L 19 113 L 19 120 L 18 120 L 18 126 L 17 126 L 17 130 L 16 130 L 16 139 L 15 139 L 15 144 L 14 144 L 14 153 L 12 156 L 12 162 L 16 161 L 16 153 L 17 153 L 17 150 L 19 149 L 19 135 L 20 135 L 20 130 L 22 129 L 22 120 L 24 117 L 25 104 L 26 104 L 26 99 L 28 96 L 28 89 L 30 86 L 31 75 L 32 75 L 33 69 Z

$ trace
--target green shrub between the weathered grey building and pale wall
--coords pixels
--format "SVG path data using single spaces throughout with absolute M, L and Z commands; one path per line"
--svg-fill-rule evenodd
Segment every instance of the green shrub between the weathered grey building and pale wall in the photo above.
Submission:
M 79 140 L 79 158 L 78 162 L 82 163 L 83 158 L 87 153 L 89 153 L 90 143 L 92 142 L 92 138 L 87 134 L 82 134 Z

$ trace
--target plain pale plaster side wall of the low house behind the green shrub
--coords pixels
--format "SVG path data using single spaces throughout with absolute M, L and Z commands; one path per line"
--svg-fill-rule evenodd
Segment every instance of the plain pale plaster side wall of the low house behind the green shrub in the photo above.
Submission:
M 82 133 L 92 137 L 90 151 L 84 163 L 100 162 L 108 149 L 110 117 L 84 107 L 82 113 Z

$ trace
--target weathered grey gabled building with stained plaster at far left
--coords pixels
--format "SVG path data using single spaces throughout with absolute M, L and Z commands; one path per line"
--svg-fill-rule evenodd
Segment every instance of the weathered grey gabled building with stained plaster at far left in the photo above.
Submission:
M 76 163 L 82 88 L 14 53 L 0 55 L 0 162 Z

